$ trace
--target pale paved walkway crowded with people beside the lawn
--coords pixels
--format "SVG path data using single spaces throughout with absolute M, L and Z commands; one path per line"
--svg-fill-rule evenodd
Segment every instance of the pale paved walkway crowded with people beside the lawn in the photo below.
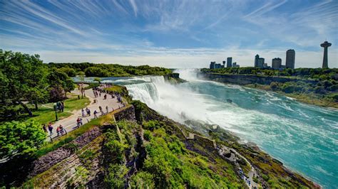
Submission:
M 76 95 L 80 95 L 81 96 L 81 92 L 76 88 L 76 90 L 72 91 L 73 94 Z M 118 99 L 112 98 L 111 95 L 107 94 L 107 99 L 103 99 L 103 96 L 106 93 L 101 93 L 101 97 L 95 97 L 93 94 L 93 90 L 86 90 L 85 92 L 86 97 L 88 97 L 88 99 L 91 101 L 90 104 L 88 104 L 88 109 L 91 110 L 91 116 L 90 117 L 82 117 L 82 111 L 81 109 L 76 109 L 74 110 L 72 113 L 72 115 L 70 117 L 67 117 L 65 119 L 61 119 L 59 121 L 56 121 L 53 124 L 53 134 L 51 134 L 51 137 L 54 138 L 57 136 L 56 133 L 56 128 L 61 124 L 63 126 L 64 129 L 66 129 L 67 133 L 69 131 L 73 131 L 74 129 L 77 129 L 76 126 L 76 119 L 78 119 L 78 117 L 82 118 L 82 122 L 83 124 L 88 123 L 89 121 L 91 121 L 91 119 L 94 119 L 94 111 L 96 110 L 96 112 L 98 112 L 98 114 L 96 114 L 98 117 L 101 116 L 101 112 L 100 109 L 98 109 L 99 106 L 102 107 L 103 112 L 106 113 L 106 106 L 108 106 L 108 112 L 113 112 L 113 110 L 115 109 L 119 109 L 119 107 L 123 107 L 123 104 L 118 102 Z M 94 103 L 94 99 L 96 99 L 96 102 Z M 67 106 L 67 104 L 65 104 L 65 106 Z M 83 108 L 86 112 L 86 107 Z M 86 114 L 86 113 L 85 113 Z M 48 131 L 49 134 L 49 131 Z M 50 141 L 50 137 L 47 138 L 48 141 Z

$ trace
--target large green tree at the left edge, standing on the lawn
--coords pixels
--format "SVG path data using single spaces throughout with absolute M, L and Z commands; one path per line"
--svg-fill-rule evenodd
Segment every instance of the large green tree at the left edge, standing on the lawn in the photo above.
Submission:
M 40 56 L 1 51 L 0 60 L 0 104 L 20 104 L 32 116 L 24 101 L 34 102 L 37 107 L 38 102 L 47 98 L 44 91 L 48 86 L 47 70 Z

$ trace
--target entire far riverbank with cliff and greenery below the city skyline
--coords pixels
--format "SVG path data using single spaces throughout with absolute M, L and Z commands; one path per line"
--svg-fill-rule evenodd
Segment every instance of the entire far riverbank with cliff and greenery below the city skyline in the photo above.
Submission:
M 337 68 L 203 68 L 201 72 L 201 76 L 211 80 L 279 92 L 308 104 L 338 108 Z

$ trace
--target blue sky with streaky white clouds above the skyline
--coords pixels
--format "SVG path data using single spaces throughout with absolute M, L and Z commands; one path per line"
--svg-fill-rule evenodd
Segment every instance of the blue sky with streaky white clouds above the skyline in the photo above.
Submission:
M 338 68 L 338 1 L 0 0 L 0 48 L 48 62 L 203 68 L 231 56 L 271 65 L 295 49 L 296 67 Z

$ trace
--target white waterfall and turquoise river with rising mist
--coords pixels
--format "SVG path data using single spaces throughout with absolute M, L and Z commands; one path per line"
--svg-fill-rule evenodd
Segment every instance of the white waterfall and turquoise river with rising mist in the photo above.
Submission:
M 160 76 L 106 81 L 126 85 L 134 99 L 176 121 L 188 117 L 218 124 L 255 142 L 324 188 L 337 188 L 337 110 L 302 104 L 272 92 L 198 80 L 195 70 L 177 72 L 188 82 L 170 85 Z

